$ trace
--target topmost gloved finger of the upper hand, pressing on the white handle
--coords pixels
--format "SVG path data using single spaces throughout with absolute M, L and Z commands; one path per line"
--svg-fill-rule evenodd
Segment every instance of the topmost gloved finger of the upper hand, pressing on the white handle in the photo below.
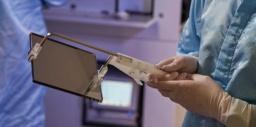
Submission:
M 183 59 L 177 59 L 177 60 L 174 60 L 174 62 L 172 62 L 171 64 L 164 65 L 163 69 L 168 72 L 174 72 L 184 68 L 185 66 L 186 65 Z

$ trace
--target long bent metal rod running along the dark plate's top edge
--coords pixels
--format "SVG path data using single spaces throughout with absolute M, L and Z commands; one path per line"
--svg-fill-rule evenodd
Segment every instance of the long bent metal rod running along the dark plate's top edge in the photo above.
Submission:
M 78 43 L 78 44 L 80 44 L 80 45 L 83 45 L 83 46 L 86 46 L 86 47 L 89 47 L 89 48 L 92 48 L 92 49 L 95 49 L 95 50 L 98 50 L 98 51 L 101 51 L 101 52 L 105 52 L 105 53 L 107 53 L 107 54 L 109 54 L 109 55 L 113 55 L 113 56 L 116 56 L 116 57 L 120 56 L 120 55 L 118 55 L 117 53 L 114 53 L 114 52 L 111 52 L 111 51 L 108 51 L 108 50 L 105 50 L 105 49 L 102 49 L 102 48 L 99 48 L 99 47 L 90 45 L 90 44 L 88 44 L 88 43 L 84 43 L 84 42 L 79 41 L 79 40 L 75 40 L 75 39 L 70 38 L 70 37 L 66 37 L 66 36 L 61 35 L 61 34 L 59 34 L 59 33 L 47 33 L 47 35 L 46 35 L 46 36 L 44 37 L 44 39 L 41 41 L 40 46 L 43 47 L 43 45 L 44 45 L 45 41 L 47 40 L 47 38 L 48 38 L 48 37 L 51 37 L 51 36 L 57 36 L 57 37 L 60 37 L 60 38 L 63 38 L 63 39 L 66 39 L 66 40 L 69 40 L 69 41 Z M 122 57 L 125 57 L 125 56 L 122 56 Z M 126 58 L 128 58 L 128 57 L 126 57 Z M 128 59 L 131 59 L 131 58 L 128 58 Z M 132 60 L 132 59 L 131 59 L 131 60 Z

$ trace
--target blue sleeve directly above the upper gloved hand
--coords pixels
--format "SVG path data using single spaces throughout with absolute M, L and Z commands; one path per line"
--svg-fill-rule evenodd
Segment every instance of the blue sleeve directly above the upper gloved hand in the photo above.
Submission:
M 181 41 L 178 45 L 177 56 L 194 56 L 199 54 L 201 39 L 201 0 L 192 0 L 189 19 L 182 30 Z

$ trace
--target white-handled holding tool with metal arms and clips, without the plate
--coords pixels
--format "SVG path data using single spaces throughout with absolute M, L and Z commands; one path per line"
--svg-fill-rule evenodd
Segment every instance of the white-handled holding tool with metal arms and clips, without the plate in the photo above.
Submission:
M 166 72 L 163 68 L 158 67 L 156 65 L 150 64 L 148 62 L 121 54 L 121 53 L 113 53 L 111 51 L 99 48 L 99 47 L 95 47 L 92 45 L 89 45 L 87 43 L 60 35 L 58 33 L 48 33 L 44 39 L 39 43 L 36 43 L 36 45 L 33 47 L 33 49 L 31 49 L 28 52 L 28 61 L 31 62 L 31 60 L 36 59 L 38 53 L 40 52 L 40 50 L 42 49 L 42 46 L 44 45 L 44 42 L 47 40 L 48 37 L 50 36 L 57 36 L 75 43 L 78 43 L 80 45 L 104 52 L 104 53 L 108 53 L 110 55 L 110 57 L 107 59 L 107 62 L 105 65 L 103 65 L 101 67 L 101 69 L 98 71 L 98 79 L 100 79 L 99 81 L 101 82 L 103 80 L 103 76 L 106 74 L 106 72 L 108 71 L 107 65 L 111 64 L 115 67 L 117 67 L 118 69 L 120 69 L 121 71 L 123 71 L 125 74 L 129 75 L 130 77 L 134 78 L 134 80 L 139 84 L 139 85 L 143 85 L 141 81 L 148 81 L 147 78 L 147 74 L 154 74 L 156 76 L 163 76 L 163 75 L 167 75 L 169 72 Z M 94 78 L 96 79 L 96 78 Z M 94 80 L 92 82 L 92 84 L 90 85 L 90 88 L 88 88 L 88 90 L 90 89 L 94 89 L 97 84 L 99 84 L 98 80 Z M 88 92 L 86 90 L 86 92 Z M 85 94 L 86 94 L 85 92 Z

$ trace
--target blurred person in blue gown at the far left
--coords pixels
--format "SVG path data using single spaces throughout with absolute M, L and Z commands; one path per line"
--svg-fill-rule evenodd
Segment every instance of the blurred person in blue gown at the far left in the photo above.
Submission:
M 32 82 L 29 33 L 47 33 L 42 5 L 65 2 L 0 0 L 0 127 L 44 126 L 46 88 Z

